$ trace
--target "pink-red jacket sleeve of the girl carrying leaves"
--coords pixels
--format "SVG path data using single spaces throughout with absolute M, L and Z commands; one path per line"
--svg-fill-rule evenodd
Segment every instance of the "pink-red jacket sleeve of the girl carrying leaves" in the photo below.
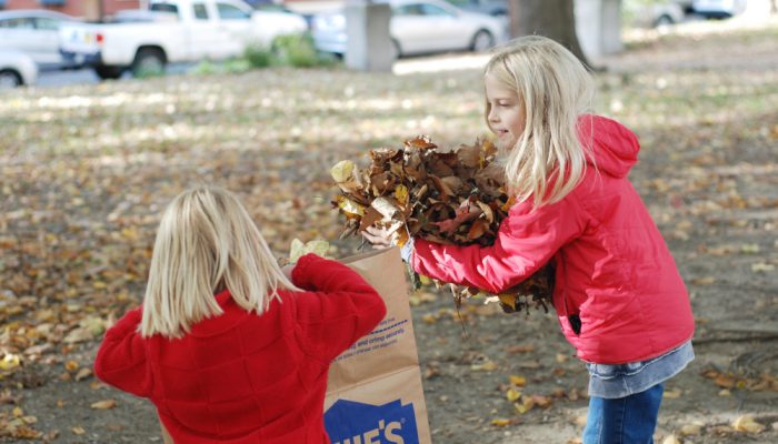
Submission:
M 491 246 L 442 245 L 415 239 L 413 270 L 495 294 L 506 291 L 532 275 L 584 232 L 586 214 L 571 194 L 535 211 L 528 201 L 513 205 Z

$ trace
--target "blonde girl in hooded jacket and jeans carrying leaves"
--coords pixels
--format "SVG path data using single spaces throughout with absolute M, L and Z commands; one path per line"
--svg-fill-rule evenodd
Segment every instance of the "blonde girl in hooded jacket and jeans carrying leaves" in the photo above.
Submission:
M 489 129 L 518 202 L 493 245 L 403 246 L 413 269 L 500 293 L 556 265 L 553 305 L 590 373 L 584 443 L 651 443 L 662 382 L 692 359 L 686 287 L 659 230 L 627 179 L 638 141 L 585 114 L 592 79 L 560 44 L 518 39 L 485 70 Z M 391 235 L 370 229 L 383 245 Z

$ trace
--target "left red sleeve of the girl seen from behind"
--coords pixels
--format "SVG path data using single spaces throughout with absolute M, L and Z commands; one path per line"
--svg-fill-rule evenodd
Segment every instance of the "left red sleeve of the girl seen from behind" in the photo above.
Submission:
M 150 394 L 144 340 L 138 325 L 142 306 L 130 310 L 106 332 L 94 359 L 94 374 L 107 384 L 137 396 Z

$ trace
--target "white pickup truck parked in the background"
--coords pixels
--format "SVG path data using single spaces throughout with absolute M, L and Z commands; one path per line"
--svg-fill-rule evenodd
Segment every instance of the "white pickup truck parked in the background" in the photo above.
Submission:
M 160 71 L 169 62 L 221 60 L 249 43 L 269 44 L 281 34 L 305 32 L 306 20 L 283 11 L 255 11 L 239 0 L 150 0 L 158 20 L 68 23 L 60 52 L 71 65 L 88 65 L 101 79 Z

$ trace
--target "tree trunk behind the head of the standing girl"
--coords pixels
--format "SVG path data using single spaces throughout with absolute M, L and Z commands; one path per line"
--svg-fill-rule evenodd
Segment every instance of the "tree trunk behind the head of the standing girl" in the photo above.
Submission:
M 511 37 L 548 37 L 589 65 L 576 34 L 573 0 L 509 0 L 508 8 Z

